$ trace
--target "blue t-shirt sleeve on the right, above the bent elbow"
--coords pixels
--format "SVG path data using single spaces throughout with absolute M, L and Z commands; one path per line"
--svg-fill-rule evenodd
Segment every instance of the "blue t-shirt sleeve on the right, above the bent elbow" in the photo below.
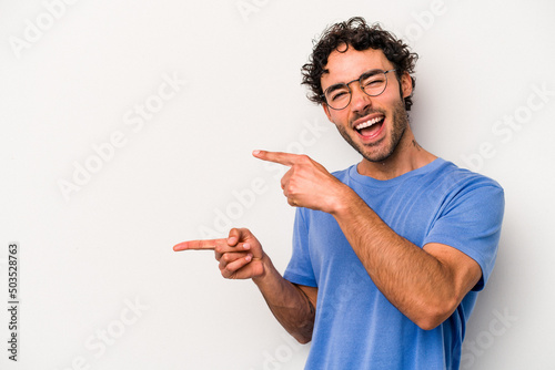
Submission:
M 468 185 L 443 207 L 424 245 L 445 244 L 474 259 L 482 278 L 472 290 L 482 290 L 497 256 L 504 209 L 505 196 L 497 183 Z

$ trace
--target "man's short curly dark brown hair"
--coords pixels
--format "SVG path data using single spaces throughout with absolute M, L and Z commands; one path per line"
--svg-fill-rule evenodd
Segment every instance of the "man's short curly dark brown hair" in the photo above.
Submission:
M 408 45 L 402 40 L 383 30 L 379 23 L 369 25 L 362 17 L 354 17 L 346 22 L 329 27 L 319 41 L 314 40 L 314 43 L 309 63 L 304 64 L 301 71 L 303 75 L 302 84 L 309 85 L 311 90 L 307 97 L 317 104 L 325 103 L 321 78 L 322 74 L 327 72 L 325 69 L 327 58 L 335 50 L 345 52 L 350 47 L 357 51 L 367 49 L 382 50 L 385 58 L 393 63 L 398 81 L 401 81 L 401 75 L 404 72 L 414 73 L 414 66 L 418 59 L 418 54 L 411 52 Z M 337 48 L 342 45 L 346 45 L 346 48 L 339 50 Z M 416 81 L 412 75 L 411 80 L 414 89 Z M 404 101 L 405 110 L 410 111 L 411 105 L 413 105 L 412 94 L 405 97 Z

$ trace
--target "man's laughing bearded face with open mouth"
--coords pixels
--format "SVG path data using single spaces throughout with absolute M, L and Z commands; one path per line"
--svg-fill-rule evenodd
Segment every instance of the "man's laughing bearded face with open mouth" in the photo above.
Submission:
M 359 79 L 374 69 L 389 71 L 394 66 L 381 50 L 356 51 L 350 47 L 346 52 L 334 51 L 327 60 L 329 72 L 321 79 L 322 90 Z M 361 153 L 363 161 L 384 162 L 400 147 L 405 131 L 410 130 L 403 97 L 411 95 L 411 78 L 405 73 L 400 82 L 395 72 L 390 72 L 386 79 L 387 86 L 379 96 L 366 95 L 355 81 L 350 84 L 352 99 L 345 109 L 332 110 L 323 104 L 329 120 Z

